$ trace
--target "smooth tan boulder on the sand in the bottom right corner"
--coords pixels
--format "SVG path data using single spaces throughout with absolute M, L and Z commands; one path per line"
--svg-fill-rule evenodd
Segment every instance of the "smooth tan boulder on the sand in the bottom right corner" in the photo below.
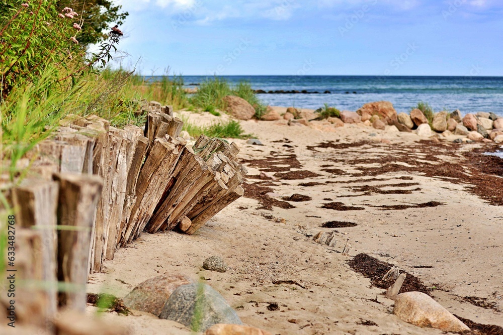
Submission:
M 393 314 L 420 327 L 433 327 L 447 332 L 470 330 L 447 309 L 422 292 L 406 292 L 395 298 Z

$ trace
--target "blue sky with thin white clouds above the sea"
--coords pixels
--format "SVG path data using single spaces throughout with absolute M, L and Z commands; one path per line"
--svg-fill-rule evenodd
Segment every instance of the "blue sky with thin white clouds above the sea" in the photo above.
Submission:
M 119 0 L 142 74 L 503 76 L 501 0 Z

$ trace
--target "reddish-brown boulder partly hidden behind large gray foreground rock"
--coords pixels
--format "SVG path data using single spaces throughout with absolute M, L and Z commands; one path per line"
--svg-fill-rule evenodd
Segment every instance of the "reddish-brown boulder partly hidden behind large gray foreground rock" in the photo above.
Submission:
M 124 305 L 159 316 L 162 307 L 173 291 L 181 285 L 190 284 L 185 277 L 163 274 L 138 284 L 124 297 Z

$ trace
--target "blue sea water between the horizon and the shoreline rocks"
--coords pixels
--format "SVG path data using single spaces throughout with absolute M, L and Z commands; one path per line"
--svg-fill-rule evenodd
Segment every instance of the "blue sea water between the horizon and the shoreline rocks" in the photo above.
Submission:
M 188 86 L 207 76 L 184 76 Z M 230 84 L 248 81 L 254 89 L 307 90 L 320 94 L 259 94 L 270 105 L 316 109 L 328 103 L 357 110 L 364 103 L 391 101 L 398 112 L 409 111 L 418 101 L 434 110 L 460 109 L 462 114 L 492 111 L 503 115 L 503 77 L 431 76 L 223 76 Z M 323 94 L 330 91 L 330 94 Z M 346 93 L 346 92 L 349 92 Z M 354 94 L 353 92 L 356 92 Z

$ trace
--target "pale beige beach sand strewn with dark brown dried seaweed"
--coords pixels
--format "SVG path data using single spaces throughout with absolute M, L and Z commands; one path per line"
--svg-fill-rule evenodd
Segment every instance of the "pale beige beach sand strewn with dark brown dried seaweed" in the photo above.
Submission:
M 202 124 L 215 119 L 195 115 L 190 120 Z M 336 129 L 321 122 L 311 128 L 279 125 L 282 122 L 241 124 L 246 133 L 264 144 L 235 140 L 241 148 L 239 158 L 248 162 L 248 182 L 259 184 L 247 188 L 245 197 L 193 236 L 143 234 L 119 250 L 114 261 L 105 263 L 105 273 L 91 276 L 90 292 L 123 297 L 148 278 L 173 273 L 211 285 L 243 322 L 273 334 L 442 333 L 405 323 L 391 313 L 393 301 L 347 264 L 365 253 L 400 267 L 429 288 L 435 287 L 432 296 L 456 315 L 503 326 L 503 313 L 497 311 L 503 310 L 503 214 L 501 207 L 474 194 L 477 190 L 487 193 L 487 188 L 482 182 L 468 182 L 482 177 L 463 156 L 480 144 L 418 142 L 421 138 L 415 134 L 376 131 L 363 125 Z M 381 139 L 391 143 L 381 143 Z M 318 146 L 322 143 L 325 145 Z M 452 177 L 444 168 L 458 169 L 459 173 Z M 289 179 L 305 176 L 306 172 L 300 172 L 275 179 L 259 177 L 261 172 L 273 176 L 292 171 L 319 176 Z M 309 182 L 315 185 L 299 185 Z M 474 185 L 478 186 L 469 192 Z M 264 191 L 260 187 L 269 187 L 266 191 L 276 195 L 262 196 L 262 204 L 246 197 L 250 190 Z M 290 209 L 274 205 L 271 210 L 258 209 L 271 205 L 272 199 L 277 200 L 274 204 L 284 205 L 281 196 L 294 193 L 312 200 L 289 201 L 295 206 Z M 432 201 L 443 205 L 415 206 Z M 332 202 L 363 209 L 321 208 Z M 378 207 L 383 205 L 415 207 Z M 312 241 L 312 235 L 319 231 L 334 231 L 319 227 L 327 221 L 349 221 L 357 226 L 336 229 L 338 243 L 328 248 Z M 350 256 L 341 253 L 346 242 L 352 245 Z M 225 260 L 226 273 L 202 268 L 203 261 L 212 255 Z M 273 283 L 282 280 L 300 286 Z M 487 299 L 485 304 L 492 309 L 475 306 L 464 297 Z M 279 308 L 274 308 L 275 304 Z M 190 333 L 183 325 L 148 313 L 105 316 L 130 325 L 135 334 Z

